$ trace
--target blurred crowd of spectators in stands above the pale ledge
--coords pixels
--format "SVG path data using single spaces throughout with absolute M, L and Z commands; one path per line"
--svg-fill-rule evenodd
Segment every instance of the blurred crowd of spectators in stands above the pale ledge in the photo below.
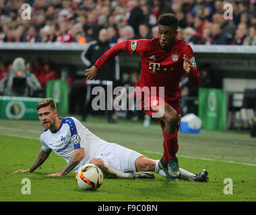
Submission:
M 22 4 L 32 8 L 22 19 Z M 232 19 L 225 19 L 225 3 Z M 157 36 L 157 18 L 172 12 L 179 38 L 193 44 L 256 44 L 256 0 L 0 0 L 0 42 L 97 40 L 102 28 L 111 43 Z

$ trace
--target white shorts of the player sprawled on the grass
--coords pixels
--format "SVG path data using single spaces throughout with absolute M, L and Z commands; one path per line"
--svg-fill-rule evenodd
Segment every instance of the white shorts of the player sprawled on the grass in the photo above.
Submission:
M 98 150 L 95 157 L 102 159 L 102 161 L 110 164 L 114 169 L 121 171 L 123 173 L 129 171 L 137 171 L 135 167 L 135 161 L 142 154 L 135 152 L 119 144 L 110 143 L 108 147 Z M 92 159 L 92 158 L 91 158 Z M 86 161 L 86 164 L 90 163 L 90 160 Z

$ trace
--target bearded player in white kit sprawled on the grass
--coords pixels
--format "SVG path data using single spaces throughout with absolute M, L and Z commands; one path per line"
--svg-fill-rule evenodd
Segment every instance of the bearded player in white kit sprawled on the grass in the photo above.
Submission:
M 57 177 L 77 171 L 84 164 L 92 163 L 106 174 L 106 177 L 154 179 L 154 171 L 166 177 L 166 173 L 159 169 L 158 161 L 149 159 L 140 153 L 112 142 L 106 142 L 92 134 L 79 120 L 58 118 L 55 101 L 51 98 L 39 101 L 36 110 L 45 130 L 40 135 L 42 144 L 36 160 L 27 170 L 18 170 L 15 173 L 32 173 L 49 157 L 53 150 L 67 161 L 67 165 L 58 173 L 48 176 Z M 207 181 L 207 171 L 195 175 L 184 169 L 181 170 L 181 179 L 189 181 Z M 136 171 L 147 171 L 135 173 Z

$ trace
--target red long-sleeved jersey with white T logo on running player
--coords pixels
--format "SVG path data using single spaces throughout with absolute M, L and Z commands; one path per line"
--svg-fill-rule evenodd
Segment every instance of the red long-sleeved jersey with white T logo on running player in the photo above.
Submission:
M 151 40 L 126 40 L 115 44 L 107 50 L 95 62 L 97 69 L 102 69 L 104 64 L 121 52 L 128 54 L 140 54 L 141 56 L 141 79 L 139 86 L 143 87 L 164 87 L 164 98 L 167 102 L 179 102 L 180 91 L 179 81 L 183 72 L 183 55 L 186 54 L 192 64 L 193 69 L 187 74 L 189 83 L 194 87 L 200 85 L 200 75 L 195 63 L 195 56 L 191 46 L 184 40 L 175 39 L 171 50 L 163 50 L 160 47 L 159 39 Z

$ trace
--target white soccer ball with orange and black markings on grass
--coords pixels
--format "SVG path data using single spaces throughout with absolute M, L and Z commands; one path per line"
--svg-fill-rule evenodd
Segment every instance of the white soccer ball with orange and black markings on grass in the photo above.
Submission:
M 102 184 L 103 173 L 96 165 L 89 163 L 78 169 L 75 180 L 82 190 L 96 190 Z

